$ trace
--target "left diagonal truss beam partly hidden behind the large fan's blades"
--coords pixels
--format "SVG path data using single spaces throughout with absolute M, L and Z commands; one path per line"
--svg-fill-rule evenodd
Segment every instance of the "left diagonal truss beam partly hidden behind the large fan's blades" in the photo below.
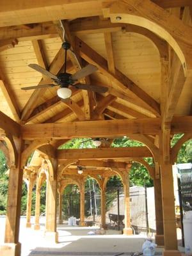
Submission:
M 49 71 L 52 74 L 58 74 L 61 67 L 63 66 L 63 61 L 64 61 L 64 52 L 63 52 L 63 49 L 61 48 L 56 54 L 54 60 L 52 61 L 49 67 Z M 49 84 L 49 83 L 52 83 L 51 79 L 45 79 L 45 80 L 42 79 L 38 85 Z M 45 90 L 47 90 L 47 88 L 38 89 L 32 93 L 31 97 L 29 98 L 28 102 L 26 103 L 26 106 L 24 106 L 24 109 L 22 111 L 22 117 L 21 117 L 22 121 L 28 120 L 29 116 L 31 115 L 31 113 L 33 112 L 33 110 L 36 108 L 38 104 L 38 99 L 42 97 L 42 95 L 44 95 Z

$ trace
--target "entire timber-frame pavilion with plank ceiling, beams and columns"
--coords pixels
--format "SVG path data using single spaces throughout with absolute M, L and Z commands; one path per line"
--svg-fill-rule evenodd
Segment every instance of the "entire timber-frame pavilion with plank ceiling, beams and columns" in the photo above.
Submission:
M 164 255 L 180 255 L 172 164 L 182 143 L 192 137 L 191 15 L 191 0 L 1 0 L 0 148 L 10 167 L 1 255 L 20 255 L 22 179 L 28 180 L 28 227 L 30 196 L 36 182 L 36 229 L 40 186 L 47 179 L 46 234 L 56 241 L 58 191 L 61 198 L 67 184 L 79 186 L 83 225 L 84 179 L 86 175 L 94 177 L 101 189 L 104 226 L 106 181 L 117 173 L 125 192 L 124 234 L 132 234 L 131 161 L 147 166 L 154 179 L 156 243 L 164 244 Z M 72 96 L 62 102 L 56 88 L 21 90 L 51 83 L 28 67 L 30 63 L 55 75 L 63 72 L 61 25 L 72 46 L 67 72 L 74 74 L 91 63 L 98 70 L 81 83 L 106 86 L 108 92 L 69 86 Z M 184 136 L 171 148 L 175 133 Z M 145 147 L 111 148 L 113 139 L 120 136 L 141 141 Z M 108 140 L 99 148 L 58 149 L 72 138 Z M 27 166 L 35 150 L 36 164 Z M 153 157 L 154 168 L 143 157 Z M 78 165 L 86 166 L 83 175 L 77 175 Z

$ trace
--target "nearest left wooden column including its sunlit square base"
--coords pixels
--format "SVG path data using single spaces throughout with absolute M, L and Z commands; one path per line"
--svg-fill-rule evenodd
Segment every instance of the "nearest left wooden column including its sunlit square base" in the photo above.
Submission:
M 17 140 L 18 161 L 16 168 L 10 167 L 4 244 L 0 246 L 1 256 L 20 256 L 19 225 L 23 170 L 20 168 L 21 141 Z

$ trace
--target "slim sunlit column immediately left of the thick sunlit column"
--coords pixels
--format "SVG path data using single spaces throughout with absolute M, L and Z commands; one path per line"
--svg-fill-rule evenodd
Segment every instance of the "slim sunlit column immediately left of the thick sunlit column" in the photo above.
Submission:
M 35 225 L 34 229 L 39 230 L 39 217 L 40 217 L 40 198 L 41 198 L 41 177 L 37 177 L 36 179 L 36 198 L 35 198 Z

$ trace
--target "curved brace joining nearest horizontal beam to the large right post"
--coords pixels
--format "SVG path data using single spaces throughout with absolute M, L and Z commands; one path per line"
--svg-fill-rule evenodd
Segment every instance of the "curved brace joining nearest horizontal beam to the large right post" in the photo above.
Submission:
M 138 142 L 141 142 L 143 144 L 146 145 L 146 147 L 148 147 L 148 149 L 150 150 L 150 152 L 152 153 L 152 156 L 154 157 L 154 161 L 159 163 L 160 159 L 160 152 L 159 152 L 159 148 L 156 147 L 156 145 L 154 145 L 154 143 L 152 143 L 152 141 L 143 134 L 129 134 L 128 135 L 129 138 L 131 138 L 131 140 L 136 140 Z

